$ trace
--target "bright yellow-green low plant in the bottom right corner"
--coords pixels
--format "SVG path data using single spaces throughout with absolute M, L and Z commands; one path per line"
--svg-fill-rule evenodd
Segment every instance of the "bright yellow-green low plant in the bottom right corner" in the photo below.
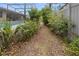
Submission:
M 66 53 L 73 56 L 79 56 L 79 37 L 73 39 L 73 41 L 66 48 Z

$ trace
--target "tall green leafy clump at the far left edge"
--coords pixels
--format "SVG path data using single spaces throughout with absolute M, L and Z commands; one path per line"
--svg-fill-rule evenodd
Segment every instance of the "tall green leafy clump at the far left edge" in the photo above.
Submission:
M 3 54 L 5 48 L 9 48 L 12 33 L 10 22 L 4 21 L 0 29 L 0 55 Z

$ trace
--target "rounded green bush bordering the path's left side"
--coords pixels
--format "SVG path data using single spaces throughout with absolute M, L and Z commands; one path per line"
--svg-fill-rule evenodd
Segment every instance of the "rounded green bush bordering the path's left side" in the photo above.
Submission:
M 18 26 L 15 30 L 17 41 L 29 40 L 38 30 L 38 24 L 35 21 L 28 20 L 24 24 Z

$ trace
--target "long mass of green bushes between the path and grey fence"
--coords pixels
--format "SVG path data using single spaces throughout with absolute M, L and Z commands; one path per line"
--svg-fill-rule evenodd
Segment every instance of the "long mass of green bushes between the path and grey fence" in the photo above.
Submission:
M 71 27 L 68 27 L 68 23 L 70 21 L 66 17 L 61 14 L 57 14 L 49 7 L 43 8 L 41 12 L 44 24 L 48 25 L 51 31 L 60 36 L 67 36 L 68 30 Z

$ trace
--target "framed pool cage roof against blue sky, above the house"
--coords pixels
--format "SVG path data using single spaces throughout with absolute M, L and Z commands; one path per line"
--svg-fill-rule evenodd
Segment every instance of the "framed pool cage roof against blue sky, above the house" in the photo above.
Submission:
M 17 14 L 26 15 L 28 10 L 36 8 L 36 4 L 32 3 L 0 3 L 0 10 L 6 10 L 7 12 L 13 12 Z M 8 13 L 7 13 L 8 14 Z

